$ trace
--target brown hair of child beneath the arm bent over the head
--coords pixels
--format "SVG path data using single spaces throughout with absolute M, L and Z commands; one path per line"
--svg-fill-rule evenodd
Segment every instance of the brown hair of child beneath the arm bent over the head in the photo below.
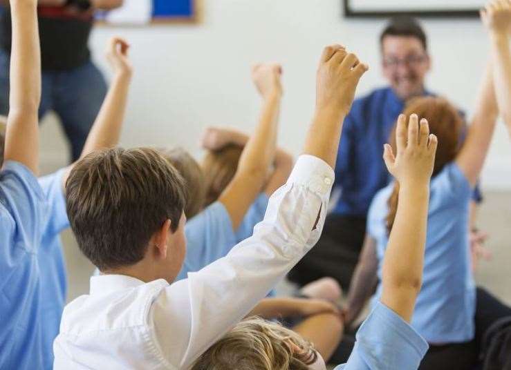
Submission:
M 229 185 L 238 170 L 242 152 L 243 148 L 234 144 L 207 152 L 202 164 L 205 175 L 206 206 L 216 202 Z

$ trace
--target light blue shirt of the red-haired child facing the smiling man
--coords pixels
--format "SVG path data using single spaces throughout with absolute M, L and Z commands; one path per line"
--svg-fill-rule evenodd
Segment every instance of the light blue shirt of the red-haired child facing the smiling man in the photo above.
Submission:
M 472 188 L 454 162 L 431 179 L 430 188 L 424 275 L 411 326 L 432 344 L 467 342 L 474 338 L 476 305 L 468 240 Z M 392 190 L 389 184 L 375 196 L 367 220 L 380 260 L 376 300 L 382 291 L 382 261 L 389 241 L 385 218 Z

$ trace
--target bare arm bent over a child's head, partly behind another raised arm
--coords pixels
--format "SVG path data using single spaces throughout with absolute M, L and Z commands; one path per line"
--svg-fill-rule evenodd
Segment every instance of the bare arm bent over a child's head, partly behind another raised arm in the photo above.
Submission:
M 210 127 L 205 130 L 202 146 L 208 150 L 220 150 L 224 146 L 234 144 L 244 147 L 248 142 L 248 135 L 229 128 Z M 275 152 L 273 171 L 264 185 L 264 193 L 270 197 L 279 187 L 286 183 L 292 171 L 292 155 L 281 148 Z

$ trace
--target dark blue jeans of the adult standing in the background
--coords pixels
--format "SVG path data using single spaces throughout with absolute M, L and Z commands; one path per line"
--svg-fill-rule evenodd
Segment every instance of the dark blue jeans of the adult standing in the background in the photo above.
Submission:
M 89 61 L 65 71 L 44 70 L 41 75 L 39 119 L 54 110 L 71 143 L 73 161 L 80 157 L 87 135 L 106 96 L 106 81 Z M 84 99 L 86 91 L 86 99 Z M 9 57 L 0 51 L 0 114 L 9 111 Z

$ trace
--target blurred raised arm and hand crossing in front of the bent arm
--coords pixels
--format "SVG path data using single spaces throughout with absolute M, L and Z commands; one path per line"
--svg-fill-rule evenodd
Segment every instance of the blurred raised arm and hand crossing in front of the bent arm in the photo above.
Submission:
M 229 213 L 236 230 L 250 205 L 254 202 L 275 157 L 277 123 L 281 101 L 281 68 L 277 65 L 258 65 L 252 69 L 252 79 L 263 97 L 259 124 L 248 139 L 238 169 L 232 181 L 219 197 Z

